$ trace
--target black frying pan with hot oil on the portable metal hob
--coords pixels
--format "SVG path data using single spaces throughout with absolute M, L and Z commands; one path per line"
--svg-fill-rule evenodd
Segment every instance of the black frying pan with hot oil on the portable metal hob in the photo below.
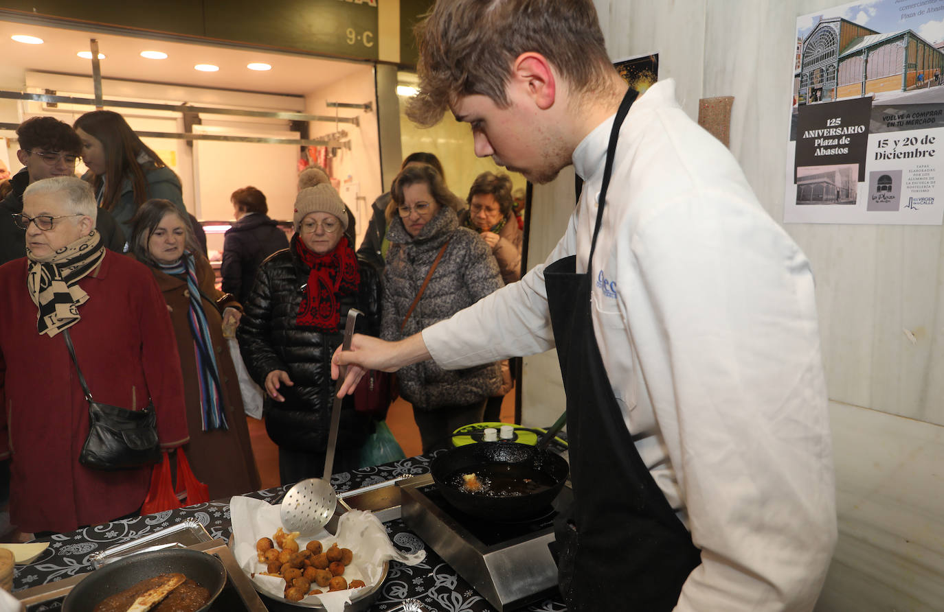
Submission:
M 526 466 L 553 481 L 553 486 L 510 497 L 489 497 L 470 493 L 449 484 L 457 471 L 471 473 L 483 466 L 512 464 Z M 449 504 L 466 514 L 490 521 L 521 521 L 541 514 L 564 488 L 570 467 L 560 455 L 517 442 L 479 442 L 447 450 L 432 460 L 430 472 L 436 487 Z

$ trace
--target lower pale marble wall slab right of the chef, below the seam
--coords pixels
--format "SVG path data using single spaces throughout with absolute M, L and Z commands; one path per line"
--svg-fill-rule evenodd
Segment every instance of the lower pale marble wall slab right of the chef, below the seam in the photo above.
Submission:
M 839 539 L 817 612 L 940 610 L 944 428 L 830 405 Z

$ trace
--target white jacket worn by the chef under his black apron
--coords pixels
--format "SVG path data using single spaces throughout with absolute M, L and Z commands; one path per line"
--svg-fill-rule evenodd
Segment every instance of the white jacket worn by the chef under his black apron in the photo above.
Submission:
M 545 264 L 423 332 L 438 364 L 554 347 L 544 267 L 586 271 L 613 121 L 574 152 L 580 203 Z M 812 610 L 836 537 L 813 274 L 672 81 L 620 129 L 592 273 L 626 426 L 701 550 L 676 610 Z

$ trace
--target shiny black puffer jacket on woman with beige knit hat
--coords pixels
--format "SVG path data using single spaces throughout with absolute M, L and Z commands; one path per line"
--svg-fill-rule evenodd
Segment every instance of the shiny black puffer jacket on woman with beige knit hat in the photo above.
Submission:
M 334 398 L 331 356 L 344 339 L 347 311 L 351 307 L 364 314 L 358 319 L 357 331 L 377 335 L 380 283 L 377 271 L 359 259 L 361 284 L 356 296 L 341 299 L 338 331 L 328 334 L 299 328 L 295 320 L 309 270 L 295 255 L 295 240 L 299 240 L 297 235 L 288 249 L 262 262 L 256 283 L 243 303 L 244 315 L 237 338 L 246 369 L 261 387 L 264 388 L 266 375 L 274 370 L 288 372 L 295 383 L 278 389 L 284 402 L 265 398 L 265 429 L 269 437 L 287 450 L 320 453 L 328 447 Z M 352 396 L 346 396 L 338 448 L 360 447 L 372 427 L 370 417 L 356 412 Z

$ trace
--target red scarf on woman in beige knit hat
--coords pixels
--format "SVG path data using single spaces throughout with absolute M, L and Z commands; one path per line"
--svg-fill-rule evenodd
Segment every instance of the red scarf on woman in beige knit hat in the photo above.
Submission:
M 321 332 L 336 332 L 341 324 L 338 298 L 354 293 L 361 284 L 354 249 L 344 236 L 337 246 L 324 255 L 310 250 L 297 235 L 292 241 L 295 253 L 310 269 L 295 323 L 299 327 L 313 327 Z

